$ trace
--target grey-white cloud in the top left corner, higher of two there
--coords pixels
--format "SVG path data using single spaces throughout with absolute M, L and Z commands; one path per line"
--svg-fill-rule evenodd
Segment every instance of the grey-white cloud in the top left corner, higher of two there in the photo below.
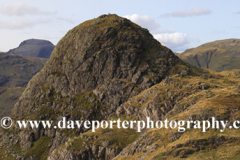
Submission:
M 30 4 L 25 3 L 8 3 L 2 6 L 1 13 L 9 16 L 51 14 L 44 12 Z

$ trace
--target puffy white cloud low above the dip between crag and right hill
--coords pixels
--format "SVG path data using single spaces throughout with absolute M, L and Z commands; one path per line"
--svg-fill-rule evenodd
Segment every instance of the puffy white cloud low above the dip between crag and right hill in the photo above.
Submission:
M 163 33 L 154 35 L 154 38 L 175 52 L 181 52 L 190 47 L 190 41 L 187 34 L 178 32 Z

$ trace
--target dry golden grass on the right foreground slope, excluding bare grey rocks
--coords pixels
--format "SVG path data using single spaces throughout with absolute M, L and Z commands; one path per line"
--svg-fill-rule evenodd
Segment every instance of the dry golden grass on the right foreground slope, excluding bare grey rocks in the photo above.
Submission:
M 191 101 L 195 101 L 194 104 L 190 105 L 189 108 L 183 110 L 181 113 L 177 113 L 170 117 L 170 120 L 184 120 L 189 115 L 198 118 L 203 112 L 209 116 L 214 115 L 220 120 L 229 119 L 240 119 L 240 94 L 239 88 L 239 70 L 227 71 L 216 73 L 214 71 L 208 70 L 208 74 L 212 75 L 210 78 L 203 78 L 199 76 L 186 76 L 177 77 L 171 76 L 172 81 L 175 85 L 169 82 L 167 85 L 162 85 L 163 82 L 157 84 L 149 89 L 144 90 L 139 95 L 133 97 L 125 105 L 134 107 L 138 99 L 145 99 L 142 104 L 138 104 L 141 107 L 146 103 L 150 103 L 157 98 L 157 96 L 166 96 L 167 91 L 171 91 L 179 99 L 179 105 L 188 104 Z M 226 80 L 231 83 L 226 83 Z M 199 89 L 198 84 L 207 84 L 208 89 Z M 181 86 L 179 89 L 177 86 Z M 195 93 L 194 90 L 198 92 Z M 178 91 L 182 91 L 183 95 L 178 95 Z M 198 119 L 197 119 L 198 120 Z M 230 120 L 231 121 L 231 120 Z M 154 144 L 159 147 L 152 153 L 149 153 L 146 159 L 179 159 L 179 156 L 174 157 L 173 153 L 179 149 L 192 149 L 192 146 L 182 146 L 180 148 L 174 149 L 173 146 L 178 144 L 185 144 L 188 141 L 197 142 L 198 140 L 205 140 L 209 143 L 204 145 L 204 149 L 200 151 L 195 151 L 193 154 L 189 154 L 186 159 L 238 159 L 240 157 L 240 147 L 239 139 L 240 130 L 236 129 L 225 129 L 224 132 L 220 130 L 209 129 L 207 132 L 202 132 L 201 129 L 190 129 L 186 130 L 179 139 L 171 142 L 169 139 L 170 132 L 177 132 L 175 130 L 169 129 L 152 129 L 148 131 L 148 137 L 154 137 L 157 135 L 157 140 Z M 212 148 L 210 143 L 211 139 L 214 137 L 225 137 L 226 141 L 222 142 L 217 148 Z M 210 149 L 209 149 L 210 148 Z M 169 151 L 173 151 L 168 154 Z M 135 153 L 127 157 L 118 157 L 118 159 L 138 159 L 140 156 L 145 155 L 143 152 Z

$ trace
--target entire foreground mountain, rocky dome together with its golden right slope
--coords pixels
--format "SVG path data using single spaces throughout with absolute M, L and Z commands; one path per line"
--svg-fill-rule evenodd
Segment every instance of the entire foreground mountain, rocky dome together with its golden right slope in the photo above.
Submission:
M 215 116 L 230 122 L 240 115 L 237 77 L 239 71 L 217 74 L 185 63 L 147 29 L 115 14 L 102 15 L 74 27 L 58 42 L 43 69 L 29 81 L 12 117 L 53 120 L 52 125 L 62 117 L 146 121 L 146 117 L 207 120 Z M 0 157 L 191 159 L 207 152 L 207 158 L 212 154 L 229 158 L 224 147 L 239 145 L 235 130 L 221 135 L 216 130 L 203 134 L 177 129 L 137 133 L 113 127 L 92 132 L 83 127 L 20 130 L 14 126 L 0 130 Z M 231 155 L 238 153 L 235 149 Z

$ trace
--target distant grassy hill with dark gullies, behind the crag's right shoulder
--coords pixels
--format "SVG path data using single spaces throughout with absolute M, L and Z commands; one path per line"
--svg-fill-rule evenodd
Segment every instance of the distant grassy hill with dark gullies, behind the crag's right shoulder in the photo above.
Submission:
M 209 42 L 176 55 L 192 65 L 217 72 L 240 69 L 240 39 Z

